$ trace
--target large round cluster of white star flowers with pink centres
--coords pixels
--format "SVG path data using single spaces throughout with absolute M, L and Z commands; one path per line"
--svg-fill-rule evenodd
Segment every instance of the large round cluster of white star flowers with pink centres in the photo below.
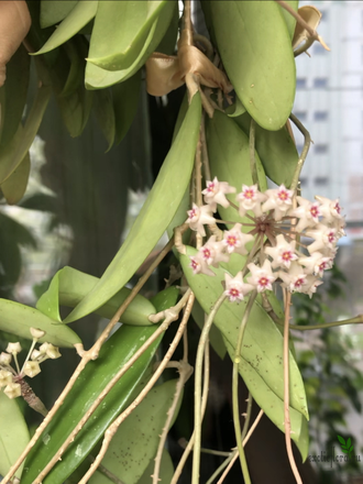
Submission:
M 205 226 L 216 227 L 219 222 L 213 217 L 217 205 L 231 206 L 226 195 L 235 191 L 217 178 L 208 182 L 202 191 L 206 205 L 194 205 L 188 211 L 190 229 L 205 237 Z M 323 272 L 332 267 L 338 240 L 345 234 L 339 199 L 317 196 L 311 202 L 297 196 L 294 202 L 294 193 L 284 185 L 265 193 L 256 185 L 243 185 L 235 198 L 239 205 L 233 207 L 248 221 L 237 222 L 220 240 L 213 231 L 198 254 L 190 257 L 194 273 L 212 276 L 210 266 L 218 267 L 237 252 L 245 255 L 246 262 L 235 277 L 226 274 L 224 294 L 231 301 L 242 300 L 252 290 L 272 290 L 275 282 L 292 293 L 311 297 L 322 284 Z

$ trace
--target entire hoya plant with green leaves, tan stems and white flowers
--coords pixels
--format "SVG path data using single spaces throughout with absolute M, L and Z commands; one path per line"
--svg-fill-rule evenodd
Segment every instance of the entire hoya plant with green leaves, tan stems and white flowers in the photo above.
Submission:
M 292 294 L 315 297 L 344 235 L 344 216 L 339 194 L 308 200 L 300 191 L 310 135 L 292 109 L 295 57 L 314 42 L 329 47 L 316 31 L 320 12 L 298 9 L 298 1 L 202 1 L 208 36 L 194 25 L 193 3 L 185 0 L 182 12 L 174 0 L 0 3 L 0 186 L 10 205 L 25 193 L 29 150 L 51 96 L 70 136 L 95 113 L 112 150 L 144 86 L 157 97 L 186 86 L 172 146 L 103 275 L 65 266 L 35 308 L 0 299 L 0 330 L 32 341 L 22 363 L 20 342 L 0 356 L 3 483 L 176 484 L 189 455 L 190 482 L 199 483 L 210 344 L 232 361 L 237 448 L 226 449 L 208 483 L 222 483 L 235 461 L 251 483 L 244 448 L 263 415 L 285 435 L 295 481 L 302 482 L 309 415 L 289 337 L 299 328 Z M 305 138 L 301 153 L 292 123 Z M 165 233 L 165 248 L 128 288 Z M 147 299 L 140 292 L 165 257 L 166 287 Z M 72 311 L 62 319 L 63 306 Z M 68 324 L 91 314 L 109 323 L 85 349 Z M 194 321 L 201 327 L 195 360 L 187 339 Z M 163 345 L 167 332 L 170 344 Z M 29 382 L 59 348 L 73 348 L 79 363 L 47 409 Z M 173 360 L 180 349 L 183 358 Z M 166 369 L 177 372 L 172 380 Z M 168 433 L 193 374 L 194 430 L 173 463 Z M 246 402 L 239 399 L 241 378 Z M 32 436 L 21 398 L 43 416 Z

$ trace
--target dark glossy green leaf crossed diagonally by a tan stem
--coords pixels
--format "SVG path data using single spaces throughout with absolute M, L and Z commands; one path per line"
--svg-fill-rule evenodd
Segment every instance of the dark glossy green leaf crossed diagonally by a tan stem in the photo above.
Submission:
M 157 324 L 144 328 L 122 326 L 103 344 L 99 358 L 88 363 L 66 397 L 65 403 L 45 428 L 42 438 L 31 450 L 26 459 L 22 484 L 31 484 L 34 481 L 37 473 L 44 469 L 50 459 L 56 453 L 108 382 L 125 365 L 128 360 L 156 329 Z M 114 385 L 82 427 L 75 441 L 69 446 L 62 461 L 43 480 L 44 484 L 64 482 L 86 459 L 109 425 L 135 397 L 134 391 L 140 385 L 160 341 L 161 338 L 152 343 Z

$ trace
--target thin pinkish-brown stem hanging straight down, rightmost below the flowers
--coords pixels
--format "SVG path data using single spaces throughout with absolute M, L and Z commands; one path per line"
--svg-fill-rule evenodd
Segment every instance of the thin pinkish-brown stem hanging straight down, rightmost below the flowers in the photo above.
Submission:
M 297 469 L 292 447 L 292 421 L 289 410 L 289 319 L 290 319 L 292 293 L 286 294 L 285 302 L 285 326 L 284 326 L 284 418 L 285 418 L 285 443 L 288 461 L 297 484 L 302 484 L 299 471 Z

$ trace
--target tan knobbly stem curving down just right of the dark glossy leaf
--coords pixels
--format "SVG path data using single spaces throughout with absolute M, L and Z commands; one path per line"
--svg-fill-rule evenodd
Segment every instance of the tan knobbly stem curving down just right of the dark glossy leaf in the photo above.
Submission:
M 120 425 L 125 420 L 127 417 L 129 417 L 130 414 L 132 414 L 132 411 L 138 407 L 138 405 L 141 404 L 141 402 L 145 398 L 145 396 L 148 394 L 148 392 L 152 389 L 152 387 L 155 385 L 155 383 L 157 382 L 157 380 L 160 378 L 160 376 L 164 372 L 165 367 L 167 366 L 168 362 L 170 361 L 170 359 L 176 350 L 176 346 L 178 345 L 178 343 L 183 337 L 184 330 L 186 328 L 186 324 L 188 322 L 188 319 L 189 319 L 189 316 L 191 312 L 194 301 L 195 301 L 195 296 L 193 293 L 190 293 L 182 322 L 179 324 L 179 328 L 178 328 L 178 330 L 174 337 L 174 340 L 172 341 L 169 349 L 167 350 L 164 359 L 162 360 L 161 364 L 158 365 L 157 370 L 155 371 L 155 373 L 153 374 L 153 376 L 151 377 L 151 380 L 148 381 L 146 386 L 142 389 L 142 392 L 140 392 L 138 397 L 132 402 L 132 404 L 129 405 L 129 407 L 121 415 L 119 415 L 119 417 L 106 430 L 101 449 L 100 449 L 99 453 L 97 454 L 95 462 L 91 464 L 91 466 L 89 468 L 89 470 L 86 472 L 86 474 L 82 476 L 82 479 L 79 481 L 78 484 L 86 484 L 90 480 L 90 477 L 96 472 L 98 465 L 101 463 L 101 461 L 102 461 L 102 459 L 103 459 L 103 457 L 110 446 L 110 442 L 111 442 L 114 433 L 117 432 L 118 428 L 120 427 Z

